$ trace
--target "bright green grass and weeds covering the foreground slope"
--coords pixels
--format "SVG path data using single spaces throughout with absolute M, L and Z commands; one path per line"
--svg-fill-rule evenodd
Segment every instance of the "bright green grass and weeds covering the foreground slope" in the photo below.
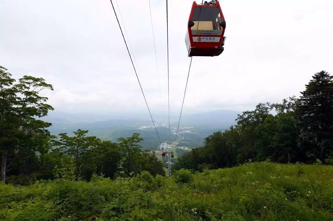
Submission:
M 80 219 L 333 220 L 333 167 L 261 162 L 171 178 L 0 183 L 0 220 Z

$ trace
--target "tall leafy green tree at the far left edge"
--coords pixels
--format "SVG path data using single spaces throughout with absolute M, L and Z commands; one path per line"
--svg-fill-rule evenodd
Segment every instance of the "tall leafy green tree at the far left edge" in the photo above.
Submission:
M 40 92 L 53 90 L 43 78 L 23 76 L 14 84 L 7 69 L 0 66 L 0 154 L 1 181 L 11 171 L 17 159 L 34 158 L 36 152 L 50 149 L 50 132 L 45 128 L 51 123 L 36 119 L 46 116 L 53 107 L 46 104 L 48 98 Z M 19 161 L 21 167 L 22 161 Z M 30 169 L 30 165 L 27 168 Z

